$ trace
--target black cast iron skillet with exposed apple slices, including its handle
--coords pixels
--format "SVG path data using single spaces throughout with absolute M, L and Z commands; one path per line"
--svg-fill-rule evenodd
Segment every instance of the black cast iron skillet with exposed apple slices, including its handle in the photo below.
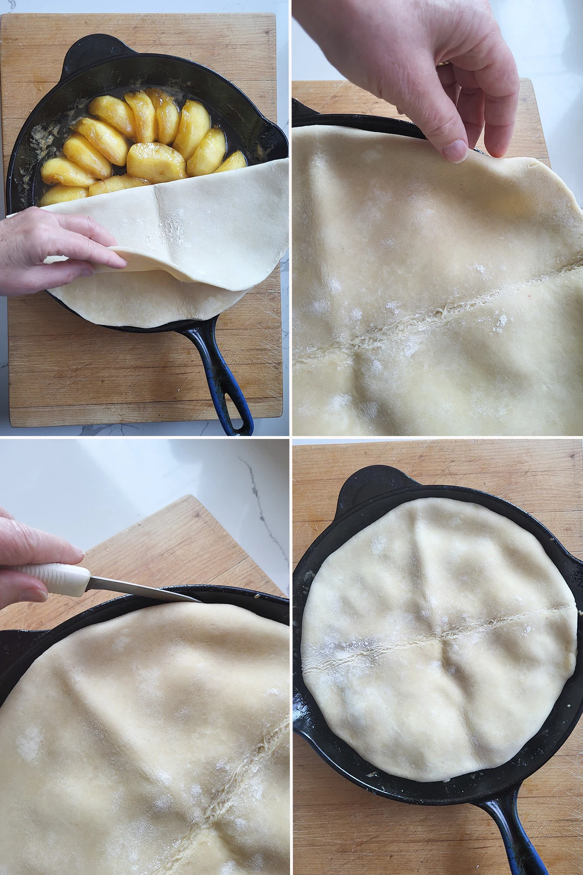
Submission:
M 287 158 L 288 141 L 283 131 L 262 116 L 248 97 L 219 73 L 173 55 L 134 52 L 115 37 L 93 33 L 71 46 L 59 82 L 38 102 L 17 136 L 6 177 L 6 214 L 18 213 L 38 202 L 43 188 L 40 165 L 57 154 L 70 134 L 69 125 L 87 113 L 88 102 L 98 95 L 122 97 L 128 90 L 150 86 L 167 90 L 177 99 L 179 107 L 188 98 L 205 103 L 212 123 L 219 124 L 225 131 L 229 151 L 240 149 L 250 165 Z M 47 131 L 53 137 L 53 144 L 39 159 Z M 115 172 L 121 172 L 121 168 L 115 168 Z M 66 306 L 62 301 L 59 304 Z M 71 311 L 69 307 L 66 309 Z M 190 339 L 200 353 L 212 403 L 226 434 L 250 435 L 253 434 L 253 418 L 245 396 L 215 340 L 217 318 L 184 319 L 155 328 L 123 325 L 115 330 L 174 331 Z M 225 395 L 231 397 L 243 420 L 239 429 L 231 422 Z

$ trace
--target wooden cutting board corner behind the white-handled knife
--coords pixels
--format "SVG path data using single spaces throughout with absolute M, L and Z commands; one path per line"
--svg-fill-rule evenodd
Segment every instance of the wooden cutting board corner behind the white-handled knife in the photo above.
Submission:
M 213 584 L 282 595 L 192 495 L 87 550 L 82 564 L 97 577 L 132 584 Z M 10 605 L 0 612 L 0 629 L 52 629 L 109 598 L 119 593 L 90 590 L 80 598 L 50 595 L 44 605 Z

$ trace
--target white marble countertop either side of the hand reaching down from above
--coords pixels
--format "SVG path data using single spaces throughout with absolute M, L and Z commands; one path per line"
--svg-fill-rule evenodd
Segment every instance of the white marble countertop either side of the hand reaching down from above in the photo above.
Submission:
M 490 0 L 518 73 L 531 79 L 554 172 L 583 206 L 583 4 Z M 292 79 L 344 79 L 292 22 Z

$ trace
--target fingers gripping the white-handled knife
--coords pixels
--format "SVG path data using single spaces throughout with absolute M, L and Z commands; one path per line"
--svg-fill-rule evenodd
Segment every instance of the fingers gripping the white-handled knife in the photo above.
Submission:
M 3 568 L 3 565 L 44 562 L 76 565 L 83 556 L 82 549 L 73 547 L 59 535 L 24 526 L 0 507 L 0 609 L 13 602 L 44 602 L 48 598 L 45 584 L 37 577 Z

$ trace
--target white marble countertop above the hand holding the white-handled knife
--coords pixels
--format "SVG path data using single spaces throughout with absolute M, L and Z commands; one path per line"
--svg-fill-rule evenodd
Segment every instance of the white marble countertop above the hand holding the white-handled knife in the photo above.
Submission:
M 194 495 L 288 594 L 285 438 L 7 437 L 2 463 L 0 504 L 86 550 Z

